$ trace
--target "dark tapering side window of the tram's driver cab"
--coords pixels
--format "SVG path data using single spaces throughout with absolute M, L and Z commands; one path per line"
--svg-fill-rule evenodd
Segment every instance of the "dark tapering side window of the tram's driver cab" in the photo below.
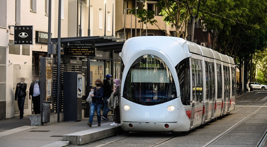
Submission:
M 185 58 L 175 67 L 181 93 L 181 101 L 183 105 L 190 105 L 190 58 Z

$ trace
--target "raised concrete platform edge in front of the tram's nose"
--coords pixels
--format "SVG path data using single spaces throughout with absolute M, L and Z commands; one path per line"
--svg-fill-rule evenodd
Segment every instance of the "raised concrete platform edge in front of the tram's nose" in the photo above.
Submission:
M 94 125 L 91 129 L 88 130 L 63 135 L 63 140 L 71 141 L 71 144 L 73 145 L 82 145 L 124 133 L 124 131 L 120 127 L 120 124 L 119 126 L 110 126 L 109 124 L 111 124 L 111 122 L 101 123 L 100 127 Z

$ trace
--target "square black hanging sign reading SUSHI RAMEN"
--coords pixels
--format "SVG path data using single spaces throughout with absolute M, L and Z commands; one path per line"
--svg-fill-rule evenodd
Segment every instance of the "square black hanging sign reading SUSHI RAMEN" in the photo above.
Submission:
M 14 44 L 33 45 L 33 26 L 14 26 Z

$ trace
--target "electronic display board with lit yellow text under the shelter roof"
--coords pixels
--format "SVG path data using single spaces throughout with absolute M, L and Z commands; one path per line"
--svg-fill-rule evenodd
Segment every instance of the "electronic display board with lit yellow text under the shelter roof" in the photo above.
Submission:
M 96 49 L 91 48 L 66 48 L 69 56 L 95 56 Z

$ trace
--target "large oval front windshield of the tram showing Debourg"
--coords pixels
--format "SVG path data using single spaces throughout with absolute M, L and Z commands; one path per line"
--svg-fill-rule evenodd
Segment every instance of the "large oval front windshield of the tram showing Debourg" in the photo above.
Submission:
M 177 93 L 167 65 L 157 56 L 143 55 L 130 67 L 122 96 L 141 105 L 157 105 L 173 100 Z

